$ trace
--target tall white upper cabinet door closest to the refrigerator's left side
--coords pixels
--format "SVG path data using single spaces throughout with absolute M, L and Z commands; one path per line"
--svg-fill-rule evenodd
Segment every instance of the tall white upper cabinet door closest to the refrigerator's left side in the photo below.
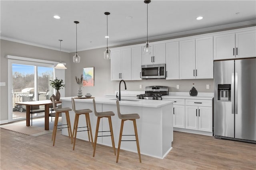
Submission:
M 213 78 L 213 37 L 196 39 L 195 78 Z

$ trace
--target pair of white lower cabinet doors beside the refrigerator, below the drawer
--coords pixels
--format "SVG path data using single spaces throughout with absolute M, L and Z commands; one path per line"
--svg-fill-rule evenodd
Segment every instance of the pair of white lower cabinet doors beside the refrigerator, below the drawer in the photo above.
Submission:
M 186 106 L 185 128 L 199 131 L 212 131 L 212 107 Z

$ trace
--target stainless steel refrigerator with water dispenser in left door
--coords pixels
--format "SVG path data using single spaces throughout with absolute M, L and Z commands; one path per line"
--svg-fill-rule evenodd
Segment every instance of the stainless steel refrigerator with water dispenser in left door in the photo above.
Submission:
M 214 61 L 214 137 L 256 143 L 256 58 Z

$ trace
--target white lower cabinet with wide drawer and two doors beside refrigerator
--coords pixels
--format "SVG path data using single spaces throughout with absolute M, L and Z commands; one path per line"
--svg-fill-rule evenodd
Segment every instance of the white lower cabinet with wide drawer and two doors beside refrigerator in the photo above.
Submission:
M 205 102 L 202 102 L 205 101 Z M 186 100 L 185 128 L 212 132 L 212 100 Z M 189 106 L 191 104 L 192 106 Z M 209 106 L 209 107 L 208 107 Z

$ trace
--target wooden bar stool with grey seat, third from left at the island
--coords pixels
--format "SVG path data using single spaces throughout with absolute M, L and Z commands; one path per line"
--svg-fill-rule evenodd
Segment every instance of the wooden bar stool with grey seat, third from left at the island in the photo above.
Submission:
M 112 147 L 114 149 L 114 154 L 116 155 L 116 147 L 115 147 L 114 134 L 113 134 L 113 128 L 112 128 L 112 121 L 111 121 L 111 116 L 114 116 L 115 113 L 113 111 L 97 112 L 96 111 L 95 100 L 93 99 L 92 101 L 93 101 L 93 107 L 94 107 L 94 114 L 98 117 L 97 125 L 96 125 L 96 131 L 95 131 L 95 138 L 94 138 L 93 157 L 95 156 L 97 137 L 106 137 L 106 136 L 111 136 Z M 107 117 L 108 118 L 110 131 L 99 131 L 100 119 L 102 117 Z M 98 132 L 110 132 L 110 135 L 98 136 Z

